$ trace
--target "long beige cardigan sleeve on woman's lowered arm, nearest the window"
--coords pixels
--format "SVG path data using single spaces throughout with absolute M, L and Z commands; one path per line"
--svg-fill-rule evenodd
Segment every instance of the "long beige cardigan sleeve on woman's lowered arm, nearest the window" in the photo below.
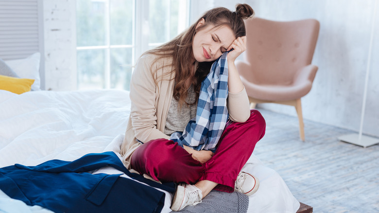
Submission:
M 131 121 L 135 137 L 141 142 L 170 136 L 156 128 L 156 85 L 152 72 L 154 55 L 139 58 L 130 82 Z

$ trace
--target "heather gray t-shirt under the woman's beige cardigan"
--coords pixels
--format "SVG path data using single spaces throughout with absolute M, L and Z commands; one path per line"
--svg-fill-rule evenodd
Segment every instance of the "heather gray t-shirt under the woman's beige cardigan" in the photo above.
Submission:
M 195 102 L 196 93 L 191 85 L 188 89 L 186 102 L 192 104 Z M 169 113 L 167 114 L 166 126 L 163 133 L 171 135 L 174 132 L 183 132 L 188 122 L 196 117 L 197 104 L 183 104 L 179 110 L 178 101 L 172 97 Z

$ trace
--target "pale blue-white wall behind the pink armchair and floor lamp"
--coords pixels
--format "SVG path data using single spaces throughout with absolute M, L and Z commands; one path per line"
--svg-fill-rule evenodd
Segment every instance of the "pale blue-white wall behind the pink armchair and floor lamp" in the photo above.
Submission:
M 302 98 L 303 116 L 359 131 L 375 0 L 218 0 L 216 6 L 234 10 L 238 2 L 250 4 L 260 18 L 278 21 L 315 18 L 320 21 L 312 61 L 319 70 L 310 93 Z M 378 137 L 379 8 L 374 29 L 363 133 Z M 294 107 L 290 106 L 259 106 L 296 115 Z

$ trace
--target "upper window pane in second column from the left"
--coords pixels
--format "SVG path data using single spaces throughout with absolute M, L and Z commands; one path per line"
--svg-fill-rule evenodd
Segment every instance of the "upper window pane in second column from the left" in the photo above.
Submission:
M 110 1 L 110 44 L 131 45 L 133 42 L 133 0 Z

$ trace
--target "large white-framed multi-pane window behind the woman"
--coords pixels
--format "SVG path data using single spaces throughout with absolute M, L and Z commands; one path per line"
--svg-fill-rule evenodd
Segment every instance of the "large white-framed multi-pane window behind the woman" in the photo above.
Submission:
M 78 89 L 126 89 L 138 57 L 188 27 L 188 0 L 77 0 Z

